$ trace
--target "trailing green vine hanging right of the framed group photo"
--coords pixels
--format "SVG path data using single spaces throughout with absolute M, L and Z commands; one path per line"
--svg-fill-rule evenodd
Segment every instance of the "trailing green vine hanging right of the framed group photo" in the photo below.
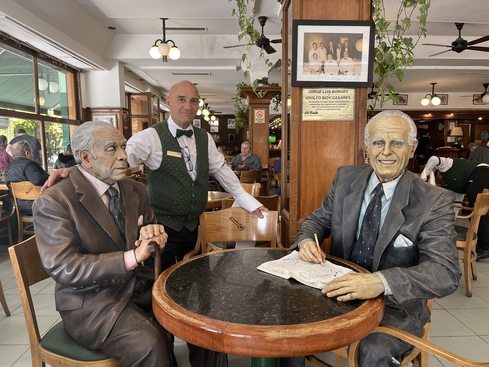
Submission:
M 396 77 L 400 82 L 404 79 L 404 71 L 407 67 L 412 67 L 414 54 L 412 50 L 419 42 L 421 37 L 426 37 L 426 17 L 431 0 L 401 0 L 397 13 L 396 23 L 391 26 L 390 21 L 386 20 L 384 0 L 372 0 L 372 20 L 375 23 L 375 55 L 374 55 L 374 74 L 379 78 L 374 83 L 377 94 L 372 95 L 372 104 L 369 111 L 373 112 L 377 101 L 382 107 L 388 100 L 399 103 L 399 96 L 395 95 L 394 87 L 387 84 L 389 77 Z M 414 11 L 418 9 L 417 21 L 411 22 Z M 405 33 L 410 29 L 411 24 L 415 23 L 418 27 L 417 36 L 405 37 Z M 392 31 L 392 28 L 394 30 Z

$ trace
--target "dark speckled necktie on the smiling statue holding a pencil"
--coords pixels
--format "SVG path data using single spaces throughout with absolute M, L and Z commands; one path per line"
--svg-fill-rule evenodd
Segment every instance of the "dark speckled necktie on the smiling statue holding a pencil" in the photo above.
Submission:
M 377 237 L 379 236 L 382 195 L 384 195 L 384 188 L 382 183 L 379 183 L 375 187 L 374 197 L 372 197 L 372 200 L 370 200 L 370 203 L 367 206 L 367 210 L 365 210 L 360 235 L 358 236 L 358 241 L 351 253 L 351 261 L 368 271 L 372 271 L 374 247 L 375 242 L 377 242 Z

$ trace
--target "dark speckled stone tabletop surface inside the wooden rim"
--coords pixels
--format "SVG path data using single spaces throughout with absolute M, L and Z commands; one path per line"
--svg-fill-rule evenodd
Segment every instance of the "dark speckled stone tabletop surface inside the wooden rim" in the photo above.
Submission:
M 288 251 L 260 250 L 219 252 L 193 259 L 168 275 L 165 291 L 188 311 L 245 325 L 319 322 L 344 315 L 365 302 L 338 302 L 295 279 L 261 272 L 258 265 Z

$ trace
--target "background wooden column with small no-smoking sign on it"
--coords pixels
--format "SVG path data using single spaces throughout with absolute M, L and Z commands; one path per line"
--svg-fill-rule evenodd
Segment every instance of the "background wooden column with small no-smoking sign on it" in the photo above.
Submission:
M 253 153 L 260 157 L 263 167 L 268 167 L 270 100 L 280 91 L 280 87 L 258 87 L 256 92 L 264 92 L 264 95 L 259 97 L 251 87 L 240 87 L 240 96 L 246 98 L 249 105 L 249 142 L 253 147 Z

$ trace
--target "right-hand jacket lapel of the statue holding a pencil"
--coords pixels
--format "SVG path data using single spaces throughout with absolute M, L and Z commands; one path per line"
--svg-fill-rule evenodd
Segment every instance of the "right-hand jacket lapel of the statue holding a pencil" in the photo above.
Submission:
M 377 242 L 375 243 L 372 272 L 377 271 L 382 253 L 391 243 L 396 233 L 406 221 L 403 209 L 409 202 L 411 183 L 412 177 L 407 171 L 405 171 L 403 177 L 396 186 L 394 195 L 391 198 L 392 201 L 391 205 L 389 206 L 389 211 L 387 212 L 386 219 L 380 230 L 379 238 L 377 238 Z

